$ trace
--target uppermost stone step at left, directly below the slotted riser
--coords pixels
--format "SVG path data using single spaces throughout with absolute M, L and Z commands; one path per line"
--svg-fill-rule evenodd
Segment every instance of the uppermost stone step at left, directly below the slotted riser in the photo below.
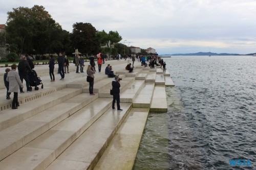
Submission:
M 66 100 L 73 98 L 80 93 L 82 93 L 81 89 L 66 88 L 24 104 L 20 104 L 19 109 L 3 110 L 0 112 L 0 131 L 22 122 L 23 120 L 36 115 L 37 113 L 65 102 Z

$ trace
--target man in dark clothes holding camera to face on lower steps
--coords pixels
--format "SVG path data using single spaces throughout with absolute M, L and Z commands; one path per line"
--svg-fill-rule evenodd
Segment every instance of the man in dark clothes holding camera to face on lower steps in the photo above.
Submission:
M 115 80 L 112 81 L 112 91 L 113 91 L 113 102 L 112 102 L 112 109 L 115 110 L 115 102 L 117 104 L 117 110 L 122 111 L 120 108 L 120 83 L 119 77 L 116 76 Z

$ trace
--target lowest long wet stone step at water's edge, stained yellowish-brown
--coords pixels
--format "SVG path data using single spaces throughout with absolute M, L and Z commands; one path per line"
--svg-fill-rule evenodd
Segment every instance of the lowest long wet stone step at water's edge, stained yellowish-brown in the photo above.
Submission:
M 94 170 L 133 169 L 149 109 L 132 108 Z

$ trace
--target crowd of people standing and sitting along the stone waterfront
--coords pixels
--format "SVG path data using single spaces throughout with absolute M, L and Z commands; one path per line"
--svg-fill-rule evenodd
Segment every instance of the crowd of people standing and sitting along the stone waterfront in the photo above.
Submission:
M 101 72 L 101 65 L 105 63 L 107 57 L 106 55 L 97 54 L 97 65 L 98 65 L 98 71 Z M 155 65 L 161 65 L 161 68 L 163 67 L 163 71 L 165 72 L 165 66 L 166 63 L 158 56 L 136 56 L 136 55 L 127 55 L 125 56 L 125 60 L 129 57 L 132 59 L 132 63 L 129 63 L 126 65 L 125 69 L 129 70 L 129 72 L 133 72 L 134 69 L 134 62 L 137 61 L 141 62 L 141 66 L 147 66 L 147 63 L 149 63 L 149 66 L 151 68 L 155 68 Z M 117 56 L 117 60 L 121 59 L 121 55 L 119 54 Z M 94 74 L 96 73 L 95 68 L 95 57 L 92 55 L 89 57 L 89 65 L 87 67 L 87 81 L 89 82 L 89 92 L 90 95 L 95 95 L 93 92 L 93 85 L 94 85 Z M 70 62 L 68 60 L 67 56 L 63 56 L 62 53 L 59 53 L 57 57 L 57 63 L 58 63 L 58 74 L 60 75 L 60 80 L 65 80 L 65 74 L 69 74 L 69 65 Z M 84 72 L 84 59 L 82 56 L 79 56 L 78 54 L 75 56 L 73 63 L 76 66 L 76 73 Z M 54 56 L 50 55 L 49 58 L 49 75 L 51 82 L 55 81 L 55 75 L 54 75 L 54 66 L 55 66 L 55 60 Z M 79 72 L 80 67 L 80 72 Z M 6 68 L 5 74 L 4 74 L 4 83 L 7 89 L 6 92 L 6 99 L 10 100 L 10 94 L 13 92 L 13 102 L 12 102 L 12 109 L 17 109 L 19 106 L 18 104 L 18 90 L 20 93 L 24 93 L 24 86 L 23 86 L 23 80 L 26 82 L 27 92 L 32 91 L 32 88 L 30 87 L 30 82 L 28 75 L 34 74 L 33 69 L 34 63 L 30 60 L 29 56 L 26 54 L 22 57 L 22 59 L 19 61 L 18 66 L 16 64 L 13 64 L 10 68 Z M 16 71 L 18 69 L 18 72 Z M 105 67 L 105 75 L 108 75 L 109 78 L 114 78 L 112 81 L 112 90 L 113 90 L 113 104 L 112 109 L 115 109 L 115 102 L 117 103 L 117 110 L 122 110 L 120 108 L 120 78 L 119 75 L 114 74 L 114 70 L 110 64 L 108 64 Z

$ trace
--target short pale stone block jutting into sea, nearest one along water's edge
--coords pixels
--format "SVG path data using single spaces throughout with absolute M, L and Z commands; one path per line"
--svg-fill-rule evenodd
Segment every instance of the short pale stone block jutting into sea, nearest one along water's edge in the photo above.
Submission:
M 153 93 L 150 111 L 167 112 L 166 92 L 164 85 L 156 85 Z

